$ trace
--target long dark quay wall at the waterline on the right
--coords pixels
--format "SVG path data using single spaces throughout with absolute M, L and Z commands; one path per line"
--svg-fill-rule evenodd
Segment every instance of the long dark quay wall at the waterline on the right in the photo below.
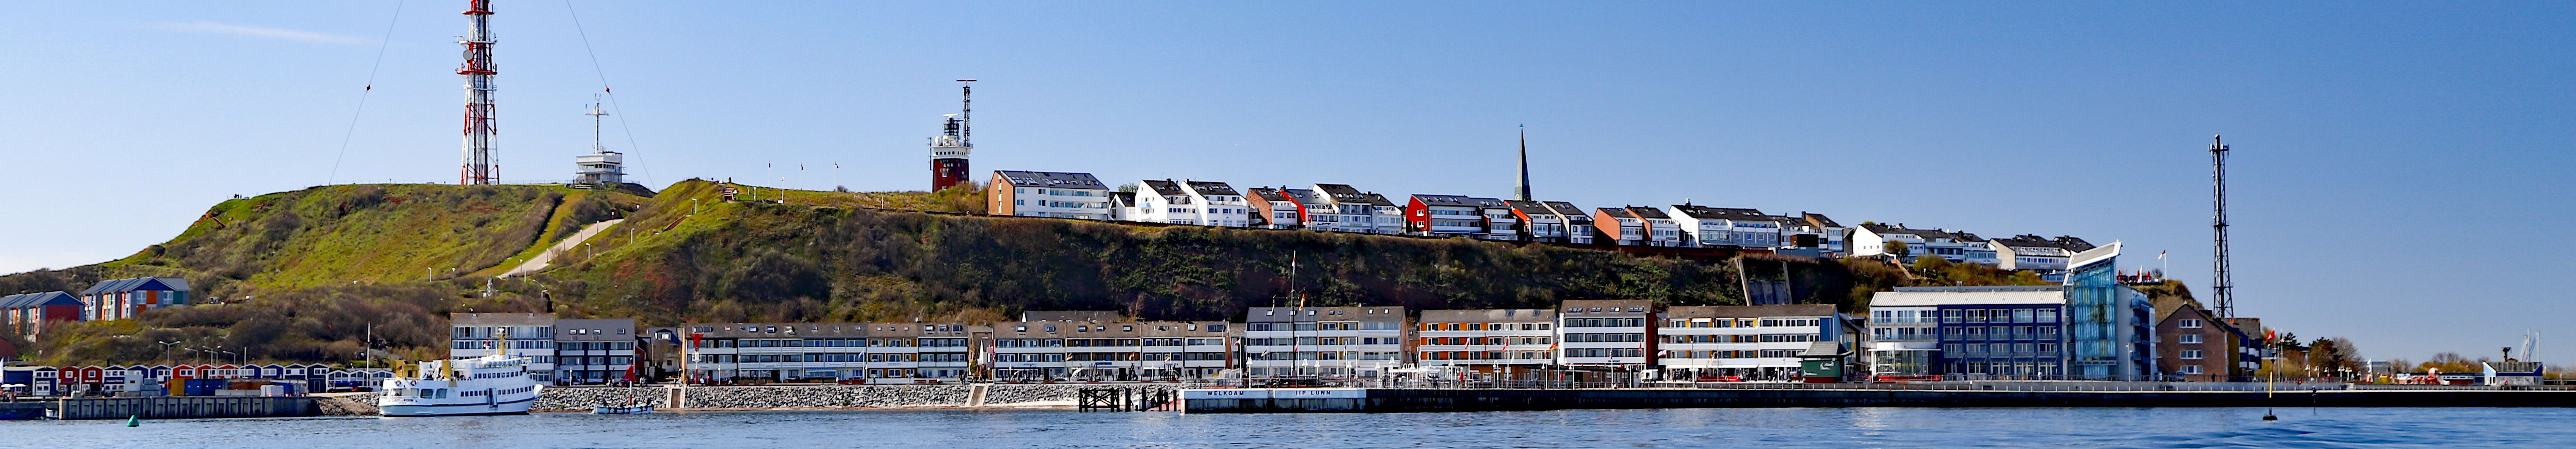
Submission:
M 1188 413 L 1435 413 L 1569 408 L 2576 408 L 2568 390 L 1185 390 Z

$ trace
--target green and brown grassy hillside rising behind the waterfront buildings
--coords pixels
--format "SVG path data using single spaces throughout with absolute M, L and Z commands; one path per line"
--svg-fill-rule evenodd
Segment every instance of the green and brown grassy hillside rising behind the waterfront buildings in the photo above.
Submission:
M 1551 307 L 1561 299 L 1739 304 L 1731 263 L 1610 250 L 1388 235 L 1146 227 L 953 214 L 940 194 L 778 191 L 683 181 L 652 199 L 554 186 L 325 186 L 216 204 L 170 243 L 64 271 L 0 276 L 0 292 L 80 289 L 116 276 L 188 276 L 227 304 L 49 330 L 21 356 L 49 364 L 157 361 L 155 341 L 252 348 L 252 359 L 345 361 L 379 346 L 440 356 L 446 312 L 567 317 L 1002 320 L 1018 310 L 1123 310 L 1229 320 L 1255 304 Z M 752 201 L 757 194 L 760 201 Z M 938 214 L 951 212 L 951 214 Z M 582 224 L 546 271 L 495 279 Z M 1293 263 L 1291 263 L 1293 261 Z M 1293 268 L 1291 268 L 1293 266 Z M 1757 279 L 1783 276 L 1777 261 Z M 1901 284 L 1891 266 L 1788 261 L 1811 302 Z M 1291 294 L 1296 292 L 1296 294 Z

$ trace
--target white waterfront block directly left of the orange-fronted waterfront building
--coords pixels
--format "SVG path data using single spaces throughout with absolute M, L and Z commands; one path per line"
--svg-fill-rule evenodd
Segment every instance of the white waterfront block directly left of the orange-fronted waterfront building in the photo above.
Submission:
M 1252 307 L 1244 312 L 1252 377 L 1383 377 L 1406 364 L 1404 307 Z

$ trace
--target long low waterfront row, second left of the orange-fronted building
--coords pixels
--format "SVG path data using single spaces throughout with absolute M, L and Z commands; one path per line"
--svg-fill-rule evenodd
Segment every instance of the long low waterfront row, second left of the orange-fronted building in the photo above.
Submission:
M 1115 312 L 1113 312 L 1115 315 Z M 1020 320 L 992 325 L 994 379 L 1206 379 L 1226 372 L 1229 323 Z

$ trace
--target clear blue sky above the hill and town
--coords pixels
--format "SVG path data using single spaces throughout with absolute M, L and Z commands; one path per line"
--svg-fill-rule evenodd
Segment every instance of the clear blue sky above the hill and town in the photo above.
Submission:
M 118 258 L 232 194 L 453 183 L 459 10 L 13 5 L 0 271 Z M 2540 359 L 2576 361 L 2548 232 L 2576 217 L 2566 3 L 495 10 L 505 181 L 569 178 L 605 80 L 608 147 L 647 186 L 925 188 L 951 80 L 976 77 L 979 178 L 1507 196 L 1528 124 L 1540 199 L 2123 240 L 2205 294 L 2226 134 L 2241 315 L 2416 361 L 2540 330 L 2568 341 Z

